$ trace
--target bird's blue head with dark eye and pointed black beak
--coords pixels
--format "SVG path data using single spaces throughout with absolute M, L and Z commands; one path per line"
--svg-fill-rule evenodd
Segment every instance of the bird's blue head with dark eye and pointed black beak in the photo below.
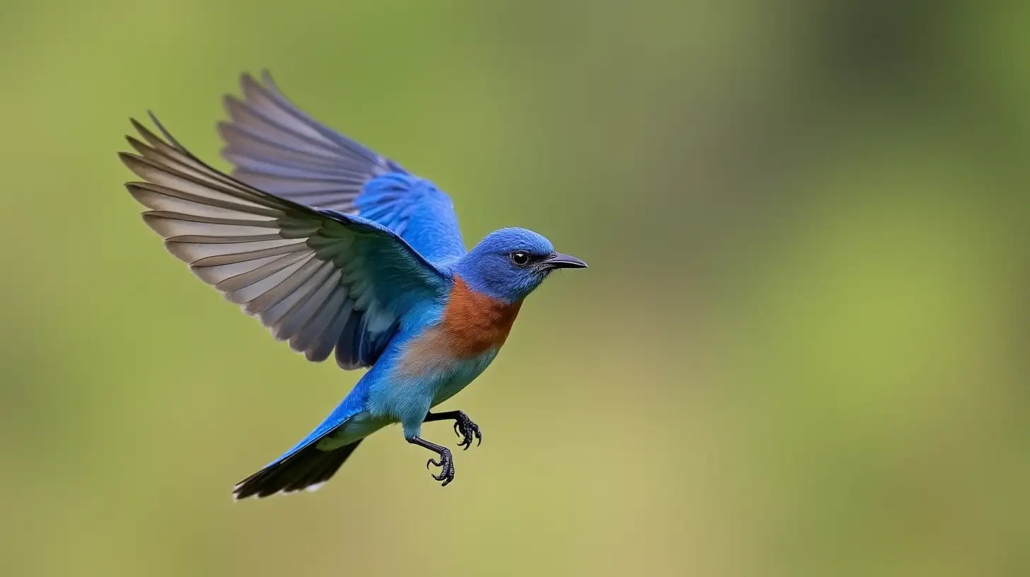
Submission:
M 533 293 L 551 271 L 582 268 L 586 263 L 555 252 L 549 240 L 533 231 L 501 229 L 462 257 L 456 272 L 473 291 L 512 303 Z

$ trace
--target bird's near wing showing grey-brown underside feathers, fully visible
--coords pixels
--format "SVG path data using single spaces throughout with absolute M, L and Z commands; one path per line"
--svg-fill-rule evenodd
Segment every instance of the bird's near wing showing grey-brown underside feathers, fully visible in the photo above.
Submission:
M 400 317 L 446 294 L 448 280 L 407 242 L 366 218 L 316 210 L 232 178 L 133 125 L 138 155 L 122 154 L 143 182 L 129 182 L 143 219 L 190 264 L 279 340 L 344 369 L 369 367 Z

